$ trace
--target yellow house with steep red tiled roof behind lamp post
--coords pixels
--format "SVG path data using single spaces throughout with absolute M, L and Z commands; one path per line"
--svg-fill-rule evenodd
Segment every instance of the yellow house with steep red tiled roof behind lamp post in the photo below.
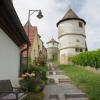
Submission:
M 29 33 L 28 33 L 28 27 L 29 27 Z M 33 64 L 34 62 L 38 61 L 39 54 L 43 50 L 43 41 L 41 40 L 41 36 L 38 34 L 37 27 L 32 26 L 30 22 L 28 22 L 28 21 L 26 22 L 26 24 L 24 25 L 24 29 L 29 37 L 30 44 L 31 44 L 29 46 L 29 50 L 28 50 L 28 57 L 31 58 L 31 63 Z M 25 48 L 25 46 L 23 48 Z M 27 51 L 23 52 L 23 57 L 24 57 L 24 63 L 26 65 L 27 61 L 25 61 L 25 60 L 27 60 L 26 59 Z

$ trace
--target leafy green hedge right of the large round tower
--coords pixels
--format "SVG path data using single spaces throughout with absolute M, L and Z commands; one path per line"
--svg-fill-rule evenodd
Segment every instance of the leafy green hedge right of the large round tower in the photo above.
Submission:
M 71 60 L 77 65 L 100 68 L 100 50 L 82 52 L 73 56 Z

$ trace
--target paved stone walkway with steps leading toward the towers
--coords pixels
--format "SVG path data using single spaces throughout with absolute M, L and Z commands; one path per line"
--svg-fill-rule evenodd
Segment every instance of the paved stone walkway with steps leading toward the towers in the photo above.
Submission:
M 85 93 L 72 84 L 70 78 L 54 66 L 47 73 L 44 100 L 88 100 Z

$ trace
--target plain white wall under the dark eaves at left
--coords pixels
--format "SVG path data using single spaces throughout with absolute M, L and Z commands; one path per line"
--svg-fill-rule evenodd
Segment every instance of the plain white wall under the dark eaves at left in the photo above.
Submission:
M 16 85 L 20 67 L 20 48 L 0 28 L 0 80 Z

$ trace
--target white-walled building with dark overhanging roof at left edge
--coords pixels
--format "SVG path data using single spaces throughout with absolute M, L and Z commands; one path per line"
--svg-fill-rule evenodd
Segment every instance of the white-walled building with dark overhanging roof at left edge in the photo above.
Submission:
M 12 1 L 0 0 L 0 80 L 11 80 L 13 85 L 16 84 L 24 44 L 29 44 L 29 39 Z

